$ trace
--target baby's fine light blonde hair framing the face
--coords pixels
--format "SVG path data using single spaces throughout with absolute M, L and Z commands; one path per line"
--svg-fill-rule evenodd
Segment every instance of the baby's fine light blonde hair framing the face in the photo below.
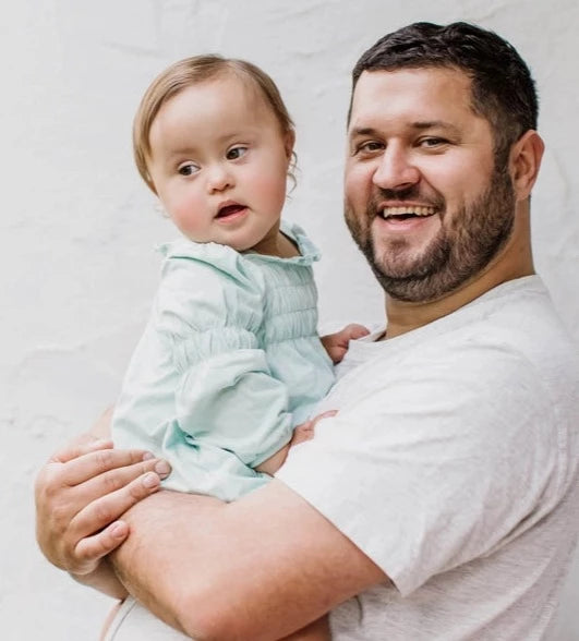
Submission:
M 159 109 L 172 96 L 186 87 L 231 73 L 251 84 L 265 99 L 276 117 L 282 135 L 294 134 L 293 121 L 281 99 L 279 89 L 274 81 L 258 66 L 221 56 L 193 56 L 174 62 L 160 73 L 145 92 L 133 122 L 133 154 L 136 168 L 149 189 L 156 193 L 155 185 L 147 169 L 147 158 L 150 158 L 150 128 Z M 289 176 L 293 179 L 295 154 L 291 155 Z

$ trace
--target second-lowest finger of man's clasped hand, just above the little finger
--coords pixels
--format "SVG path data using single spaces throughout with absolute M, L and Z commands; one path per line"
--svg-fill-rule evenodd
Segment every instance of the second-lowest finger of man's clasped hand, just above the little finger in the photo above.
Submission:
M 72 519 L 75 539 L 80 541 L 116 521 L 129 508 L 157 492 L 160 477 L 155 472 L 142 474 L 116 492 L 93 500 Z

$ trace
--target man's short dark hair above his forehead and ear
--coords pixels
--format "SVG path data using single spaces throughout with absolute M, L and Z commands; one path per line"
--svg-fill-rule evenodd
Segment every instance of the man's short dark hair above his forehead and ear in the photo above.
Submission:
M 381 38 L 352 72 L 352 97 L 363 71 L 449 68 L 472 81 L 471 106 L 494 131 L 495 154 L 536 129 L 539 105 L 529 68 L 516 49 L 493 32 L 465 22 L 447 26 L 417 22 Z M 348 113 L 348 121 L 351 114 Z

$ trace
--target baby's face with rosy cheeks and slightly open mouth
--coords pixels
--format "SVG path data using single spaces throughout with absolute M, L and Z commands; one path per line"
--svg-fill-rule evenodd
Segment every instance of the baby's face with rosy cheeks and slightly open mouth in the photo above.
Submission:
M 155 189 L 188 238 L 267 253 L 293 138 L 256 90 L 234 75 L 192 85 L 160 108 L 149 140 Z

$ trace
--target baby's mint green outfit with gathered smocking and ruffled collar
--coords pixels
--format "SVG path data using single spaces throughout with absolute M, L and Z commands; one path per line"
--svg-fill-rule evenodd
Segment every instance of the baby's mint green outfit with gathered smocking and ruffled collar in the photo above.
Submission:
M 270 477 L 253 470 L 286 445 L 334 383 L 316 334 L 312 263 L 179 240 L 112 422 L 116 447 L 169 460 L 164 486 L 234 500 Z

